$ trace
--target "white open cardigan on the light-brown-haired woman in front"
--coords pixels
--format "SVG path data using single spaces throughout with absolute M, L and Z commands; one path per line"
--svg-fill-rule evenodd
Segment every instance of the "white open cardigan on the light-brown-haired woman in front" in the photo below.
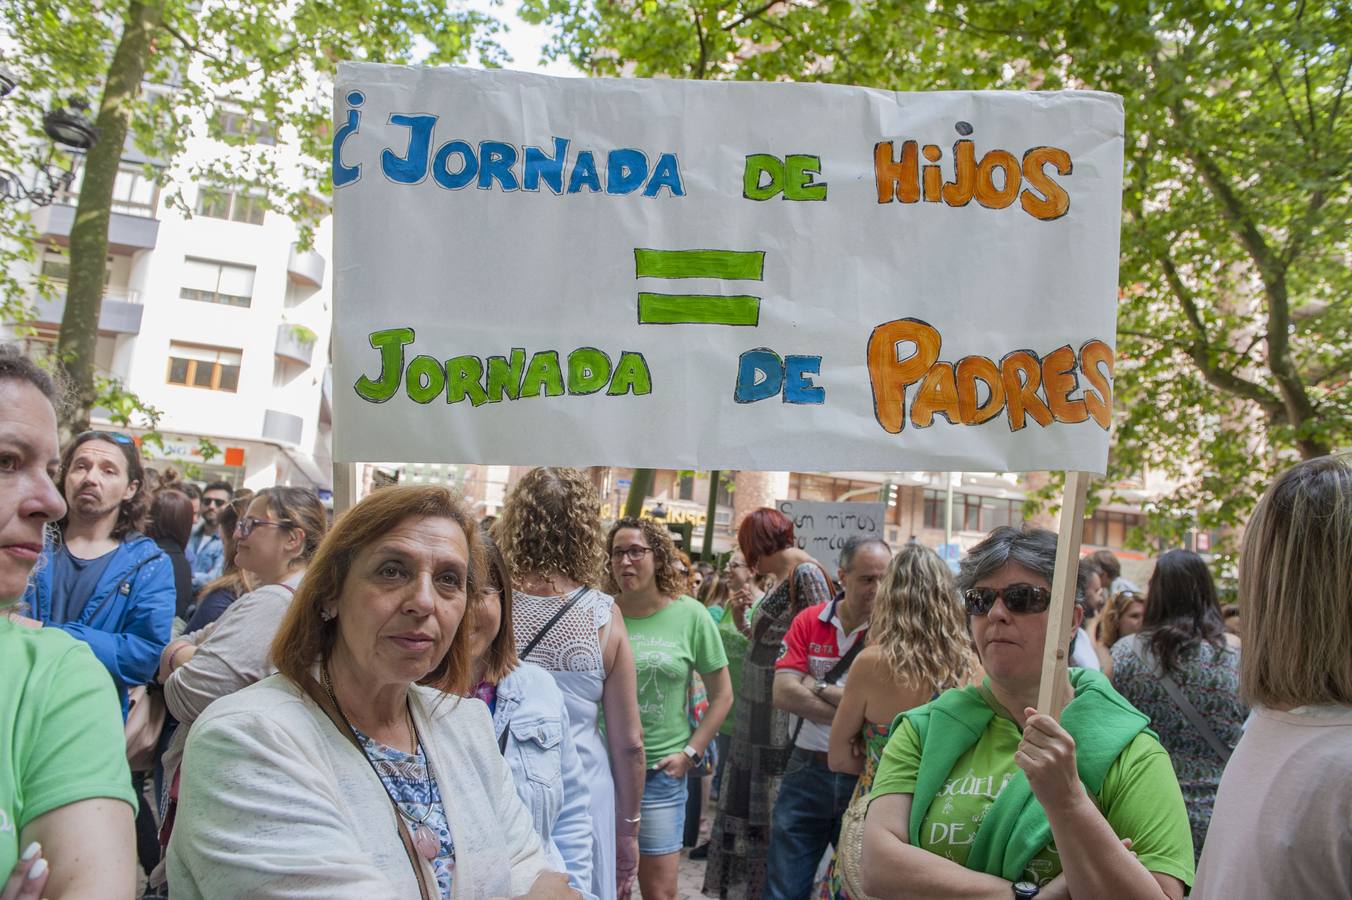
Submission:
M 516 897 L 549 861 L 479 700 L 414 686 L 456 843 L 454 900 Z M 370 765 L 289 678 L 222 697 L 188 738 L 169 842 L 174 900 L 418 900 Z M 435 882 L 433 882 L 435 889 Z

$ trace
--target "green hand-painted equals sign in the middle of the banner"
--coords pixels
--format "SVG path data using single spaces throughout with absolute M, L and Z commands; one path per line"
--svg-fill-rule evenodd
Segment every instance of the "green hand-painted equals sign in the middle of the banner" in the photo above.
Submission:
M 719 278 L 763 281 L 764 250 L 634 250 L 638 278 Z M 638 324 L 756 326 L 760 297 L 750 295 L 650 293 L 638 295 Z

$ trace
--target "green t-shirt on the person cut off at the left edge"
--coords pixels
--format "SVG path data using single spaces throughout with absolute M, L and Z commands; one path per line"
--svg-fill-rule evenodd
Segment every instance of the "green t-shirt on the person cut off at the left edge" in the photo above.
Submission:
M 78 800 L 112 797 L 135 811 L 122 705 L 89 646 L 58 628 L 0 618 L 0 880 L 23 828 Z

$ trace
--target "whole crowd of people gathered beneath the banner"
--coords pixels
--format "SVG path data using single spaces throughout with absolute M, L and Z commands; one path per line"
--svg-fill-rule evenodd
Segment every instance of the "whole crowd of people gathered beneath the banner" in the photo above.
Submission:
M 827 572 L 761 508 L 692 562 L 565 468 L 330 522 L 58 401 L 0 347 L 0 900 L 672 900 L 704 804 L 708 896 L 1352 897 L 1349 455 L 1264 493 L 1234 611 L 1084 557 L 1038 711 L 1045 530 Z

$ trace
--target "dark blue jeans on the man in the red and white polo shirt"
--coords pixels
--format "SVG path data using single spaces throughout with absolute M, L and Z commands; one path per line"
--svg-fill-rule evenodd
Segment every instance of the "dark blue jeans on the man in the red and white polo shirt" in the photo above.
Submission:
M 841 832 L 856 776 L 837 774 L 810 750 L 794 749 L 779 785 L 765 859 L 765 900 L 806 900 L 813 876 Z

